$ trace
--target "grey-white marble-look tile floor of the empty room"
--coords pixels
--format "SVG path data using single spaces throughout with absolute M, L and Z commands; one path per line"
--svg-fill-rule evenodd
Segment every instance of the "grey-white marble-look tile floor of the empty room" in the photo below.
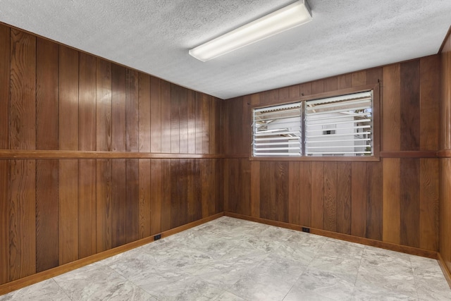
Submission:
M 451 300 L 434 259 L 223 216 L 0 300 Z

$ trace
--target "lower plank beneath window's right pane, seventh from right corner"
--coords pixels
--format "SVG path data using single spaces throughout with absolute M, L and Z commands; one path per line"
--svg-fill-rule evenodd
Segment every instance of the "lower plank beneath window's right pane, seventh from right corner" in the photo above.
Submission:
M 337 231 L 337 162 L 324 163 L 324 230 Z

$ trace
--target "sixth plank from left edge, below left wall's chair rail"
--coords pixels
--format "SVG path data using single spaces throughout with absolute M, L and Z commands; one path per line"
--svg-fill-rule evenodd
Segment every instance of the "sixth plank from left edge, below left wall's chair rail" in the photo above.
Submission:
M 111 249 L 112 245 L 111 211 L 113 204 L 111 160 L 97 160 L 96 173 L 96 247 L 97 252 L 102 252 Z M 115 237 L 113 235 L 113 238 Z

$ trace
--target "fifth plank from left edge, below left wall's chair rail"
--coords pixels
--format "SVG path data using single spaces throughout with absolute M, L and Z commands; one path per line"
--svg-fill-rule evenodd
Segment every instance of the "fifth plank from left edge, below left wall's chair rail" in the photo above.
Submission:
M 79 161 L 78 178 L 78 257 L 83 258 L 97 252 L 97 199 L 96 161 Z

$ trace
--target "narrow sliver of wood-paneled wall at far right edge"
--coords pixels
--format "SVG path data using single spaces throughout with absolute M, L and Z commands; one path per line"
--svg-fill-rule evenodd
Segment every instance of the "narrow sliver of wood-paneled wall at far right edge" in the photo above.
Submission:
M 451 275 L 451 35 L 445 39 L 441 58 L 440 255 Z

